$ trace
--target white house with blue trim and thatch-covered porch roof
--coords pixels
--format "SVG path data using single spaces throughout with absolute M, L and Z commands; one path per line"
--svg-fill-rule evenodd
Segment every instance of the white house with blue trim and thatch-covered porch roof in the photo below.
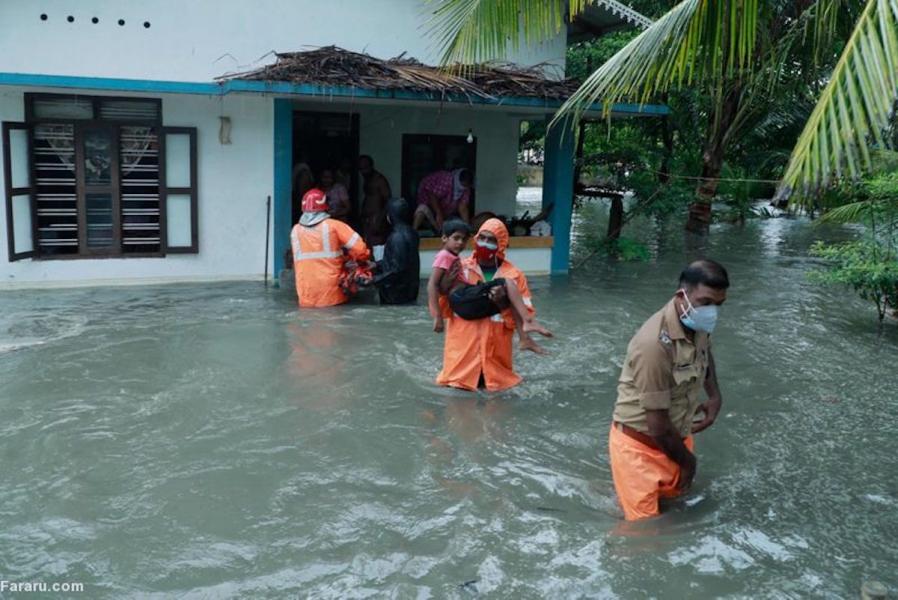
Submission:
M 469 166 L 477 211 L 513 215 L 520 124 L 551 118 L 561 98 L 240 75 L 328 46 L 436 64 L 428 11 L 419 0 L 0 4 L 0 286 L 277 276 L 301 162 L 348 165 L 357 194 L 355 158 L 368 155 L 406 196 L 428 170 Z M 597 2 L 506 60 L 558 79 L 569 37 L 640 18 Z M 567 272 L 573 138 L 559 126 L 546 140 L 553 235 L 511 242 L 530 273 Z

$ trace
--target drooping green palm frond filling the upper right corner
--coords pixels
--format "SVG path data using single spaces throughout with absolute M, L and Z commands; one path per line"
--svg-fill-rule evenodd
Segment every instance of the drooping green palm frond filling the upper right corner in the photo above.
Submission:
M 779 197 L 801 202 L 869 169 L 898 100 L 898 1 L 868 0 L 792 152 Z

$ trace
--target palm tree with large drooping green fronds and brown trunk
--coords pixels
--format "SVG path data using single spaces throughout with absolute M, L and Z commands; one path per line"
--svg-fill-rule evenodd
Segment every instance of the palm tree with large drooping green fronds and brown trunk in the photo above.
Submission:
M 522 39 L 557 35 L 565 8 L 577 15 L 587 3 L 440 0 L 433 30 L 444 64 L 473 64 L 503 56 Z M 844 30 L 845 23 L 854 28 Z M 896 24 L 895 0 L 684 0 L 593 72 L 555 119 L 576 122 L 595 102 L 607 114 L 615 102 L 645 103 L 672 90 L 699 89 L 708 99 L 707 127 L 687 227 L 702 230 L 728 147 L 784 87 L 823 91 L 789 159 L 780 196 L 807 200 L 869 167 L 867 147 L 887 145 L 883 131 L 898 96 Z M 834 48 L 846 38 L 836 61 Z M 821 75 L 833 62 L 831 74 Z

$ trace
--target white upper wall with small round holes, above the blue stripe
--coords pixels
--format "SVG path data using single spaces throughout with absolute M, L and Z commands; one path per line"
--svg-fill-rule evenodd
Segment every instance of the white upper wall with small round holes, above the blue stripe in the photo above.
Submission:
M 427 7 L 422 0 L 6 0 L 0 72 L 209 82 L 273 62 L 272 51 L 328 45 L 436 64 Z M 565 41 L 561 32 L 508 60 L 563 67 Z

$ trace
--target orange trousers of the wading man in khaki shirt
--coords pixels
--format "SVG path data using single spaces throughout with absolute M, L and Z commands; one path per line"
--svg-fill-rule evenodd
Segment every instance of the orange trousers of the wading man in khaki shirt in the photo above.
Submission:
M 692 451 L 692 436 L 683 440 Z M 666 454 L 622 433 L 614 424 L 608 434 L 611 477 L 624 518 L 636 521 L 661 514 L 660 498 L 679 495 L 680 466 Z

